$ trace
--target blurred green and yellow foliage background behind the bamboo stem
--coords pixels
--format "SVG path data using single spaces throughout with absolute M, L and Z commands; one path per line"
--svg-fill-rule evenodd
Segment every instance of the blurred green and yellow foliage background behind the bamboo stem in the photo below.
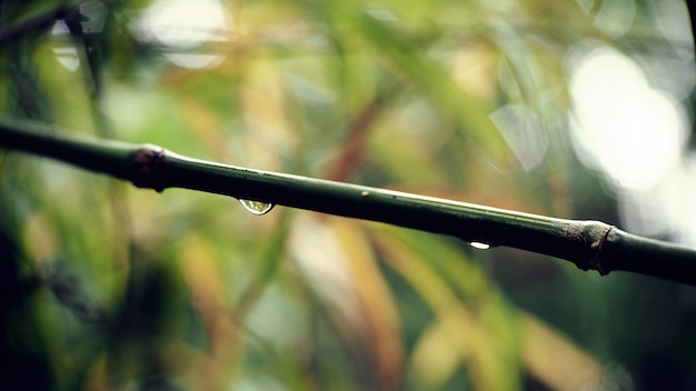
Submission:
M 678 0 L 0 1 L 0 27 L 6 117 L 696 244 Z M 1 389 L 696 387 L 694 288 L 0 167 Z

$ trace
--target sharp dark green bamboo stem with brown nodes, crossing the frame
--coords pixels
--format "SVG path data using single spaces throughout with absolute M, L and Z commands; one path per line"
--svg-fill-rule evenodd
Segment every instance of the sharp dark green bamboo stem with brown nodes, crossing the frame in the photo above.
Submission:
M 0 120 L 0 146 L 58 159 L 162 191 L 183 188 L 505 245 L 607 274 L 624 270 L 696 285 L 696 250 L 576 221 L 252 170 L 137 146 L 67 134 L 47 124 Z

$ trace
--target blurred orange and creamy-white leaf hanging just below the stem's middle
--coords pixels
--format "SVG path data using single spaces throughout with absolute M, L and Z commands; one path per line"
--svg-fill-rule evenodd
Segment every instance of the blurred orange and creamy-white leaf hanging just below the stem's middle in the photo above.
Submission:
M 290 253 L 327 303 L 335 328 L 369 349 L 379 389 L 402 378 L 400 318 L 374 249 L 355 221 L 300 214 L 290 233 Z

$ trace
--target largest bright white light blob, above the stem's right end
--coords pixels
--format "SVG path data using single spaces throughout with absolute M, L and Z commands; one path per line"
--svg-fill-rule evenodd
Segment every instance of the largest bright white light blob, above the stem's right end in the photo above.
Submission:
M 687 122 L 683 109 L 650 88 L 638 66 L 613 49 L 580 49 L 570 58 L 578 153 L 618 189 L 655 186 L 682 154 Z

